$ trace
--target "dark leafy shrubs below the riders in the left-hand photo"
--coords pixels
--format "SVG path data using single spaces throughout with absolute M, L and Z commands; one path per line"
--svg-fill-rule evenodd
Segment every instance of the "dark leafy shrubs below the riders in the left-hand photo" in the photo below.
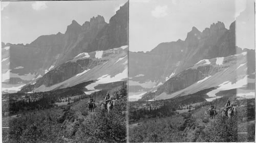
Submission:
M 86 98 L 3 119 L 3 126 L 9 127 L 3 128 L 3 142 L 126 142 L 126 84 L 117 90 L 120 97 L 109 113 L 100 106 L 88 112 Z

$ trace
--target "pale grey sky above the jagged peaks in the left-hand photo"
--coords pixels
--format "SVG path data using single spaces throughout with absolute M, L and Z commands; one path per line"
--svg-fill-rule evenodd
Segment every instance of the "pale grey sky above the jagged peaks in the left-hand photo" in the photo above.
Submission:
M 1 2 L 2 42 L 31 43 L 41 35 L 65 33 L 72 20 L 80 25 L 101 15 L 110 18 L 127 0 Z

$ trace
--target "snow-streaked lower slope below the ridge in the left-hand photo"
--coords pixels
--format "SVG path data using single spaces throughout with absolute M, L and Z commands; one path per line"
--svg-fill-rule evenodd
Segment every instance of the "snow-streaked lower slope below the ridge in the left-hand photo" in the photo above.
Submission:
M 80 53 L 73 59 L 38 78 L 34 92 L 73 87 L 85 81 L 94 81 L 86 89 L 93 93 L 99 84 L 126 80 L 128 46 Z M 98 91 L 98 90 L 97 90 Z

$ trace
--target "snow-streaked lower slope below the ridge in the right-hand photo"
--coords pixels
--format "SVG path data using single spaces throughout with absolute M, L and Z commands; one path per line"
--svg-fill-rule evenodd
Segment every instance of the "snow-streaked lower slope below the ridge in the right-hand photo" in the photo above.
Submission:
M 210 98 L 216 98 L 220 91 L 238 89 L 238 94 L 248 94 L 254 90 L 250 84 L 255 85 L 255 69 L 248 70 L 252 66 L 248 57 L 254 56 L 254 50 L 243 50 L 242 53 L 227 57 L 218 57 L 209 60 L 202 60 L 188 69 L 180 72 L 159 86 L 154 92 L 155 99 L 168 99 L 177 96 L 185 96 L 209 88 L 216 88 L 215 91 L 207 93 Z M 250 54 L 250 55 L 249 55 Z M 255 60 L 254 60 L 255 62 Z M 152 93 L 145 94 L 145 97 Z

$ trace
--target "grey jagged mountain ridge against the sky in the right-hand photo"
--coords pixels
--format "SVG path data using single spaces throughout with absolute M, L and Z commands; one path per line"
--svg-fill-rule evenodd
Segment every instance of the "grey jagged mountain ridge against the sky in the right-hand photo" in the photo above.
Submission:
M 236 21 L 230 24 L 229 30 L 220 21 L 211 24 L 203 32 L 193 27 L 185 41 L 179 39 L 176 42 L 161 43 L 146 53 L 130 52 L 129 90 L 132 93 L 142 89 L 145 92 L 154 91 L 169 78 L 200 60 L 241 52 L 242 49 L 236 46 Z M 133 88 L 135 85 L 141 88 Z

